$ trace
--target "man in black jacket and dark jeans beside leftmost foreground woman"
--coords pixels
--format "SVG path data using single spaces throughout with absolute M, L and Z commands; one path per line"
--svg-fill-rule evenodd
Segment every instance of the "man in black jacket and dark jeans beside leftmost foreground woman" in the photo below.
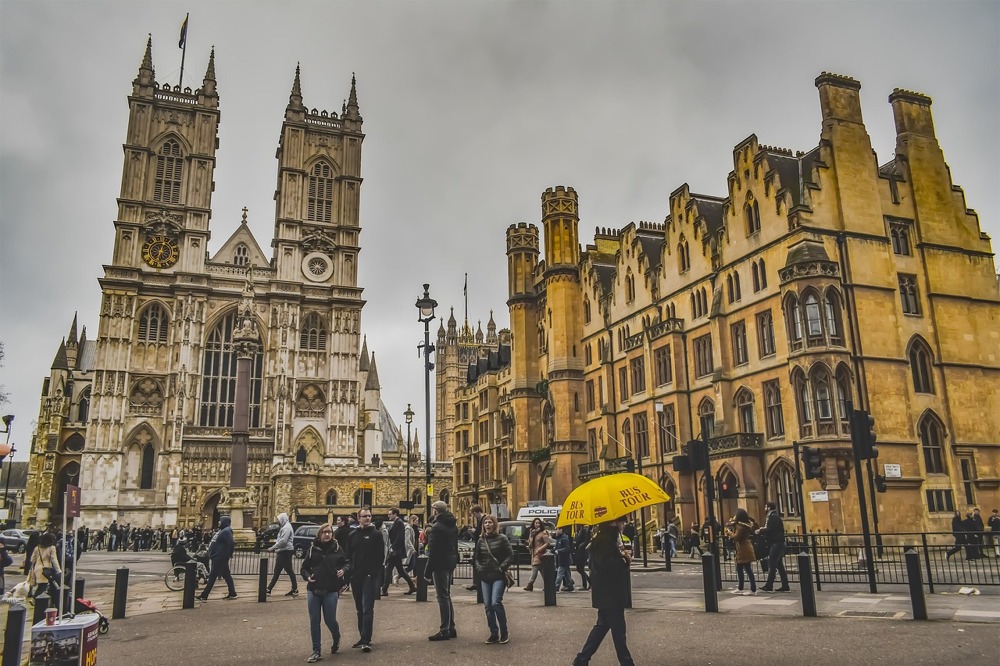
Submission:
M 375 626 L 375 599 L 378 598 L 379 578 L 385 545 L 382 533 L 372 525 L 372 510 L 358 511 L 358 527 L 347 539 L 347 577 L 351 581 L 354 607 L 358 611 L 358 642 L 351 647 L 362 652 L 372 651 L 372 631 Z

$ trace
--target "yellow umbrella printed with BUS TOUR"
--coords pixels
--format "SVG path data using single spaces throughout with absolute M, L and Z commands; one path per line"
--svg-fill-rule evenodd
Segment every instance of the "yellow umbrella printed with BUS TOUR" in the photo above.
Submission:
M 608 474 L 574 489 L 563 502 L 556 525 L 596 525 L 669 501 L 670 495 L 641 474 Z

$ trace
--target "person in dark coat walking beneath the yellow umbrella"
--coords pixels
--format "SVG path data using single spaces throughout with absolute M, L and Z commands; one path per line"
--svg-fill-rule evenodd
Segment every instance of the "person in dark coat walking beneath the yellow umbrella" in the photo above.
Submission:
M 629 602 L 631 554 L 622 547 L 621 529 L 625 519 L 602 523 L 590 540 L 590 598 L 597 609 L 597 624 L 573 660 L 573 666 L 587 666 L 590 658 L 611 631 L 615 654 L 621 666 L 634 666 L 625 640 L 625 607 Z

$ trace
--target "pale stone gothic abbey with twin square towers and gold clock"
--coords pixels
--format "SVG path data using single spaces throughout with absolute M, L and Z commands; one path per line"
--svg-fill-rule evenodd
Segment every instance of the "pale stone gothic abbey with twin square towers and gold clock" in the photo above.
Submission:
M 323 516 L 373 484 L 378 505 L 402 497 L 395 482 L 379 480 L 382 461 L 399 458 L 400 438 L 381 404 L 374 358 L 367 347 L 359 355 L 364 134 L 356 82 L 340 114 L 303 99 L 296 67 L 267 256 L 247 209 L 241 221 L 213 220 L 214 50 L 201 87 L 181 89 L 156 82 L 147 42 L 128 98 L 97 337 L 78 339 L 74 320 L 46 379 L 26 521 L 60 514 L 62 489 L 78 482 L 92 527 L 211 525 L 229 482 L 233 332 L 247 285 L 262 338 L 251 364 L 247 473 L 256 520 L 276 511 Z M 235 231 L 210 256 L 210 223 L 220 222 Z

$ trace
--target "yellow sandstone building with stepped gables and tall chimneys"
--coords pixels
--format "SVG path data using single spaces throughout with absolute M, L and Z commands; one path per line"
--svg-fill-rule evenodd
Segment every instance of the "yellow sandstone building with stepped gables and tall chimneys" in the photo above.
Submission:
M 722 520 L 770 499 L 790 529 L 804 511 L 811 531 L 856 533 L 848 402 L 875 418 L 883 531 L 947 532 L 955 510 L 1000 505 L 1000 289 L 931 100 L 889 96 L 896 151 L 880 166 L 860 83 L 816 87 L 819 144 L 749 136 L 725 196 L 682 185 L 662 223 L 599 228 L 581 252 L 577 193 L 556 187 L 544 244 L 533 224 L 507 229 L 510 345 L 470 345 L 464 382 L 438 367 L 458 511 L 560 504 L 631 458 L 674 498 L 651 527 L 700 522 L 702 488 L 671 462 L 704 434 Z M 804 506 L 795 441 L 822 451 Z

